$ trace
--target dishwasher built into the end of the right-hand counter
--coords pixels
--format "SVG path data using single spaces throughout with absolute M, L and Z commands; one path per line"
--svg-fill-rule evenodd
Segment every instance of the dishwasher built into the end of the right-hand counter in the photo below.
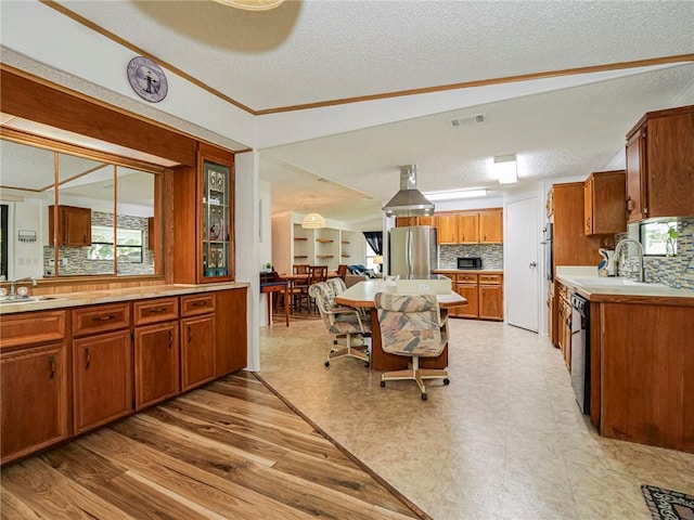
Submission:
M 571 387 L 581 412 L 590 414 L 590 301 L 571 294 Z

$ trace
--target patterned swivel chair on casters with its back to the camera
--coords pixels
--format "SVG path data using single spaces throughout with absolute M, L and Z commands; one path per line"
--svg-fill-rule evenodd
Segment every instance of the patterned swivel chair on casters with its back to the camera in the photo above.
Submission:
M 450 382 L 445 369 L 420 368 L 420 358 L 437 358 L 444 352 L 448 342 L 448 316 L 440 312 L 435 295 L 376 292 L 374 302 L 383 350 L 412 358 L 407 369 L 384 373 L 381 386 L 385 387 L 386 381 L 412 379 L 420 387 L 422 401 L 426 401 L 424 379 Z

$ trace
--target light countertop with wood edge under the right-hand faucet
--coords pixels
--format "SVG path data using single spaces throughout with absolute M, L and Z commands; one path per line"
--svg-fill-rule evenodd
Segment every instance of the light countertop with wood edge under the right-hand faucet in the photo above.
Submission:
M 665 284 L 650 284 L 629 278 L 597 276 L 591 268 L 556 268 L 556 280 L 590 301 L 656 301 L 679 306 L 694 306 L 694 291 L 676 289 Z

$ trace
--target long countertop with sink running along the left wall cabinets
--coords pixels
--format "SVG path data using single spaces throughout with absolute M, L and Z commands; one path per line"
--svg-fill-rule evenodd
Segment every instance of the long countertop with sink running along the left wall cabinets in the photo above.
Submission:
M 41 295 L 30 297 L 28 301 L 0 303 L 0 315 L 16 312 L 60 310 L 70 307 L 94 306 L 100 303 L 115 303 L 119 301 L 142 300 L 146 298 L 162 298 L 166 296 L 193 295 L 196 292 L 237 289 L 241 287 L 248 287 L 249 285 L 250 284 L 246 282 L 207 285 L 170 284 Z

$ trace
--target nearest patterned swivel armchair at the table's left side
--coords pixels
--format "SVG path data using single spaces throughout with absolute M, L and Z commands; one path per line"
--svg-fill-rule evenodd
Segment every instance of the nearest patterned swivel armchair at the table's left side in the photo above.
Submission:
M 311 285 L 309 294 L 316 299 L 325 328 L 336 336 L 327 353 L 325 366 L 330 366 L 331 360 L 343 356 L 357 358 L 369 366 L 369 346 L 364 341 L 364 336 L 371 334 L 369 317 L 364 317 L 358 309 L 352 307 L 337 306 L 335 291 L 326 282 Z M 338 338 L 344 338 L 345 347 L 339 344 Z M 352 343 L 354 339 L 358 342 Z

